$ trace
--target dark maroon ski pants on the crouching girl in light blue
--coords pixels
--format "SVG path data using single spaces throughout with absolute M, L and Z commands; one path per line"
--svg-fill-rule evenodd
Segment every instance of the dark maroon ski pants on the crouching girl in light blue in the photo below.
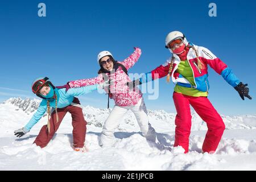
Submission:
M 67 107 L 58 108 L 57 114 L 59 116 L 59 122 L 56 120 L 56 112 L 53 111 L 51 114 L 50 122 L 50 131 L 48 132 L 47 125 L 44 125 L 38 134 L 38 137 L 35 139 L 35 144 L 41 148 L 46 147 L 49 141 L 52 139 L 53 135 L 60 126 L 61 121 L 63 120 L 67 112 L 71 113 L 72 116 L 72 126 L 73 126 L 73 146 L 74 147 L 83 147 L 85 142 L 86 134 L 86 124 L 87 122 L 84 119 L 82 114 L 81 107 L 69 105 Z

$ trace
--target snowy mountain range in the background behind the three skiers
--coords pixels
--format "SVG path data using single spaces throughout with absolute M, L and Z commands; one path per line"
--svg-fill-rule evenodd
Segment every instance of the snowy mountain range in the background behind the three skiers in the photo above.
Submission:
M 3 102 L 3 105 L 11 104 L 16 106 L 15 110 L 22 110 L 27 114 L 34 114 L 34 111 L 38 109 L 40 100 L 31 100 L 26 98 L 22 100 L 21 98 L 10 98 L 9 100 Z M 3 106 L 2 105 L 2 106 Z M 83 108 L 83 113 L 85 120 L 88 122 L 88 125 L 94 125 L 96 127 L 102 127 L 105 119 L 110 114 L 112 109 L 98 109 L 92 106 L 85 106 Z M 148 116 L 150 122 L 154 123 L 164 123 L 167 124 L 168 130 L 175 130 L 175 115 L 176 113 L 167 113 L 164 110 L 148 110 Z M 192 130 L 207 130 L 206 123 L 200 118 L 200 116 L 192 111 Z M 46 116 L 46 114 L 44 115 Z M 256 129 L 256 115 L 237 115 L 237 116 L 228 116 L 221 115 L 222 119 L 225 122 L 226 129 Z M 125 130 L 125 127 L 129 125 L 130 127 L 136 127 L 136 118 L 131 111 L 123 118 L 123 124 L 120 124 L 118 130 Z

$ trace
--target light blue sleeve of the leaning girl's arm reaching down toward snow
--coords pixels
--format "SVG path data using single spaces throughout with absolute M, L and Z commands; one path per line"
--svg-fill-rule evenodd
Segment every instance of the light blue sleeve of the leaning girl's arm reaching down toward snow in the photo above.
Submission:
M 24 129 L 26 131 L 30 131 L 31 128 L 42 118 L 44 113 L 46 113 L 46 109 L 47 109 L 47 102 L 46 102 L 46 100 L 43 100 L 40 103 L 38 110 L 36 110 L 36 113 L 32 116 L 32 118 L 27 123 L 27 125 L 24 127 Z

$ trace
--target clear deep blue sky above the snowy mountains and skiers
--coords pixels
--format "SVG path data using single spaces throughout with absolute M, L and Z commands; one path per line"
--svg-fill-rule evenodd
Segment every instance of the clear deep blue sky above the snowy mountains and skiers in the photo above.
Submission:
M 38 4 L 46 3 L 46 17 Z M 209 3 L 217 17 L 208 15 Z M 130 73 L 143 73 L 163 64 L 168 32 L 179 30 L 187 39 L 210 49 L 249 84 L 253 100 L 240 96 L 209 68 L 209 100 L 220 114 L 256 113 L 255 1 L 1 1 L 0 102 L 10 97 L 35 97 L 31 82 L 48 76 L 53 84 L 97 76 L 98 52 L 109 50 L 123 60 L 141 47 L 142 56 Z M 175 112 L 174 85 L 159 82 L 158 100 L 148 109 Z M 83 105 L 106 108 L 105 94 L 80 97 Z M 113 106 L 111 101 L 111 106 Z

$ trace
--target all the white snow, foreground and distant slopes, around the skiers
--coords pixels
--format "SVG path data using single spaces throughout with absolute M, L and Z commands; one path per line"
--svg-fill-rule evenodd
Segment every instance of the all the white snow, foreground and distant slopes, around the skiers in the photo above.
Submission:
M 115 131 L 112 147 L 98 145 L 102 125 L 110 110 L 85 106 L 88 152 L 72 150 L 71 115 L 67 114 L 47 147 L 32 144 L 40 128 L 47 123 L 45 115 L 22 138 L 13 131 L 26 125 L 39 100 L 10 98 L 0 104 L 0 170 L 255 170 L 256 115 L 225 116 L 226 130 L 215 154 L 201 152 L 207 126 L 192 113 L 189 152 L 173 147 L 175 113 L 149 110 L 157 142 L 148 142 L 139 132 L 134 115 L 129 112 Z

